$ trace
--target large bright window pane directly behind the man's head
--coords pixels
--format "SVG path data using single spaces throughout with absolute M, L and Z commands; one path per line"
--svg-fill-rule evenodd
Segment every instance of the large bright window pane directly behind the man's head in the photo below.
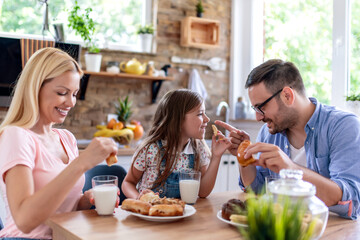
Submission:
M 293 62 L 307 95 L 329 104 L 332 0 L 266 0 L 264 12 L 264 61 L 280 58 Z

